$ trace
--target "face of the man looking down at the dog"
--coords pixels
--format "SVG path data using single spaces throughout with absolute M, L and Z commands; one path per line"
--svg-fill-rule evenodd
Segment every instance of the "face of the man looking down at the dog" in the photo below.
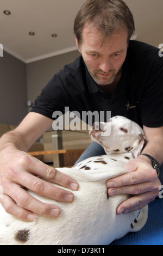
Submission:
M 83 29 L 82 44 L 78 45 L 91 77 L 100 86 L 111 84 L 122 70 L 127 54 L 128 32 L 116 32 L 105 39 L 96 27 L 88 24 Z

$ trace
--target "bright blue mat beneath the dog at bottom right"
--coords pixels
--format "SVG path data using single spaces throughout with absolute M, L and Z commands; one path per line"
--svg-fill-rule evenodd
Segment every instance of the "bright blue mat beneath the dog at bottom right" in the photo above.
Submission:
M 148 206 L 148 220 L 145 226 L 110 245 L 163 245 L 163 199 L 156 198 Z

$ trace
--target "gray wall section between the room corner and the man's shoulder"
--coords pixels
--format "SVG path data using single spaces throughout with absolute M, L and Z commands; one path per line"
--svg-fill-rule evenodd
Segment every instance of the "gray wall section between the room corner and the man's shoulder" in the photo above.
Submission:
M 54 74 L 78 56 L 79 52 L 73 51 L 27 64 L 28 100 L 34 102 Z

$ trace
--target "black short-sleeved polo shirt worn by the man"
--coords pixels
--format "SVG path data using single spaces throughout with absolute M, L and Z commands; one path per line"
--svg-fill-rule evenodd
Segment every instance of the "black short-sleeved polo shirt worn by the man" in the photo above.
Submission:
M 36 98 L 32 112 L 52 118 L 54 111 L 111 111 L 140 126 L 163 125 L 163 57 L 159 49 L 143 42 L 129 42 L 121 80 L 113 94 L 92 79 L 82 56 L 54 75 Z

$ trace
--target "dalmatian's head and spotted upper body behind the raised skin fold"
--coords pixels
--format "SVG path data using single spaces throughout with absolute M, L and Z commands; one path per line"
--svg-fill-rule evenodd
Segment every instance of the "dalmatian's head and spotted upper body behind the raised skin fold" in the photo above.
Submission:
M 93 141 L 104 148 L 106 155 L 90 157 L 74 168 L 100 169 L 112 166 L 123 167 L 124 164 L 140 155 L 146 144 L 146 137 L 141 127 L 126 117 L 110 118 L 108 123 L 94 123 L 90 130 Z

